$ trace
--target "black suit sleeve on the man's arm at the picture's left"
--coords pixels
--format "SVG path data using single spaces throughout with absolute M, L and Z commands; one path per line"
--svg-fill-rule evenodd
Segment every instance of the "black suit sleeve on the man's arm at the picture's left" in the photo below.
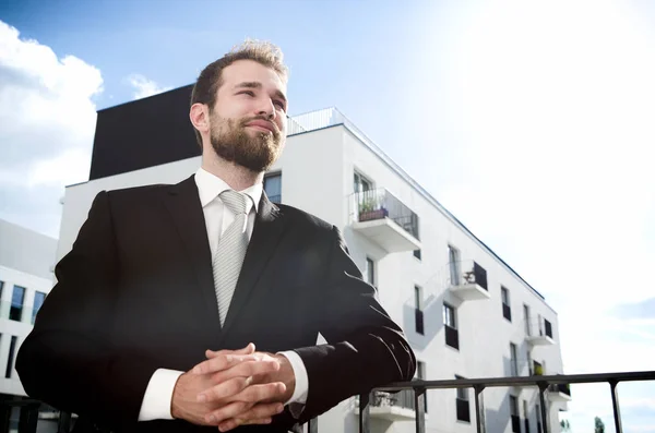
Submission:
M 110 336 L 119 275 L 109 194 L 100 192 L 71 252 L 56 267 L 16 359 L 26 393 L 109 426 L 135 422 L 154 360 L 117 351 Z

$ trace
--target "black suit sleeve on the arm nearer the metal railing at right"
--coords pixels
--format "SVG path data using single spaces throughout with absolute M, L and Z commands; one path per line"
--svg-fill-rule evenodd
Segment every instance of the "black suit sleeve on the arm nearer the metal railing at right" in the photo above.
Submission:
M 307 368 L 309 394 L 300 422 L 340 401 L 391 382 L 410 381 L 416 359 L 403 332 L 361 279 L 335 227 L 324 284 L 313 310 L 326 345 L 296 349 Z

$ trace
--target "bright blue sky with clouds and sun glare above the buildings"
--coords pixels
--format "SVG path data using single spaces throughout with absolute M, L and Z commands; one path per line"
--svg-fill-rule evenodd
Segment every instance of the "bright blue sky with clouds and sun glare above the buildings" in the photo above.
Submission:
M 246 37 L 279 45 L 289 113 L 335 106 L 559 313 L 564 372 L 655 359 L 655 3 L 0 4 L 0 218 L 58 233 L 95 110 L 178 87 Z M 621 393 L 655 432 L 653 384 Z M 573 387 L 573 432 L 607 386 Z M 623 388 L 621 388 L 623 389 Z

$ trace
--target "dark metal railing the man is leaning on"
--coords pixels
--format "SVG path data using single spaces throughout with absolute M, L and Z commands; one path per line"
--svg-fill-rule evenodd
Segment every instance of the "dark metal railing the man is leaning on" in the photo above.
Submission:
M 539 426 L 548 433 L 548 413 L 546 409 L 546 395 L 551 385 L 569 385 L 569 384 L 588 384 L 588 383 L 607 383 L 611 395 L 615 429 L 617 433 L 622 433 L 621 412 L 619 408 L 619 394 L 617 385 L 621 382 L 636 381 L 655 381 L 655 371 L 644 372 L 627 372 L 627 373 L 600 373 L 600 374 L 561 374 L 538 377 L 486 377 L 486 378 L 458 378 L 449 381 L 421 381 L 415 380 L 412 382 L 400 382 L 389 384 L 386 386 L 374 389 L 371 394 L 359 396 L 359 432 L 371 433 L 371 414 L 370 408 L 376 404 L 376 393 L 398 393 L 398 395 L 412 395 L 414 404 L 413 410 L 415 417 L 415 431 L 417 433 L 426 432 L 426 390 L 428 389 L 468 389 L 475 390 L 475 422 L 478 433 L 486 432 L 486 411 L 484 404 L 484 390 L 491 387 L 537 387 L 539 390 Z M 373 397 L 373 398 L 371 398 Z M 395 397 L 396 401 L 408 397 Z M 457 399 L 460 400 L 460 399 Z M 405 401 L 405 400 L 403 400 Z M 468 400 L 466 400 L 468 401 Z M 9 431 L 9 416 L 12 408 L 20 408 L 20 433 L 36 433 L 38 421 L 38 407 L 40 402 L 37 400 L 2 400 L 0 401 L 0 417 L 3 422 L 0 425 L 0 433 Z M 403 402 L 409 405 L 409 402 Z M 458 410 L 458 409 L 457 409 Z M 59 417 L 58 433 L 70 432 L 71 417 L 69 413 L 61 412 Z M 308 432 L 318 433 L 318 420 L 309 421 Z

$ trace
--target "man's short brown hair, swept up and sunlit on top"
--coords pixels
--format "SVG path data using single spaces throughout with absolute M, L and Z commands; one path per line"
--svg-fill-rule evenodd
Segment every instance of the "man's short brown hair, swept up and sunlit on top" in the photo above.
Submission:
M 228 53 L 207 64 L 202 70 L 191 92 L 191 105 L 206 104 L 211 112 L 216 104 L 216 93 L 221 85 L 223 85 L 223 69 L 237 60 L 253 60 L 274 70 L 284 83 L 288 80 L 289 71 L 284 64 L 284 55 L 279 47 L 269 41 L 246 39 L 241 45 L 233 47 Z M 202 149 L 200 132 L 195 128 L 193 131 L 195 132 L 195 140 L 198 140 L 198 144 Z

